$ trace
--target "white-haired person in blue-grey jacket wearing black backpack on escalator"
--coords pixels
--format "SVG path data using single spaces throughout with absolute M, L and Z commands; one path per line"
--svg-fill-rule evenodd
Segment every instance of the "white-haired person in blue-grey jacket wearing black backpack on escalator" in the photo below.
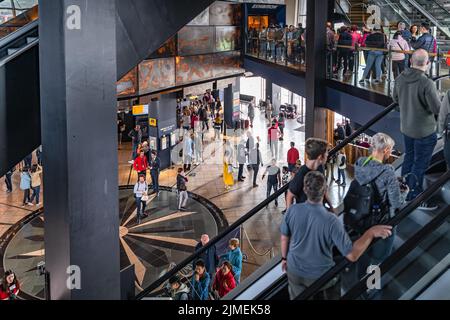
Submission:
M 344 223 L 356 236 L 374 225 L 385 224 L 402 206 L 394 167 L 385 164 L 394 145 L 391 137 L 378 133 L 372 138 L 372 154 L 355 164 L 355 180 L 344 198 Z M 386 259 L 393 243 L 394 236 L 378 241 L 368 252 L 371 263 L 379 264 Z

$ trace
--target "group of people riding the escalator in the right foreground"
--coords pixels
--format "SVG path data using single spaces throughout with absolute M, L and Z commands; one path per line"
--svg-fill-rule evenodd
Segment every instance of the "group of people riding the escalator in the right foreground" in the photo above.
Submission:
M 306 142 L 306 153 L 311 160 L 290 183 L 287 198 L 289 209 L 281 226 L 283 270 L 288 275 L 292 299 L 334 265 L 333 247 L 349 261 L 358 261 L 344 275 L 350 279 L 341 279 L 342 287 L 344 283 L 354 284 L 364 275 L 361 270 L 380 264 L 391 254 L 396 230 L 387 224 L 405 203 L 423 191 L 425 171 L 438 134 L 446 136 L 445 152 L 449 165 L 450 96 L 447 93 L 443 100 L 440 99 L 436 85 L 426 76 L 429 63 L 428 51 L 416 50 L 411 57 L 410 68 L 401 73 L 394 89 L 393 97 L 398 103 L 400 131 L 405 143 L 402 177 L 398 178 L 394 168 L 386 164 L 395 141 L 386 134 L 376 134 L 369 144 L 370 156 L 355 163 L 355 180 L 344 199 L 344 225 L 335 215 L 327 212 L 333 211 L 330 205 L 324 206 L 328 202 L 327 179 L 323 175 L 323 165 L 329 158 L 327 142 L 317 139 Z M 343 138 L 342 131 L 345 130 L 339 131 L 340 138 Z M 403 177 L 406 177 L 406 184 Z M 376 201 L 370 208 L 363 209 L 367 212 L 358 215 L 357 211 L 361 210 L 358 209 L 358 202 L 361 201 L 358 191 L 371 184 Z M 292 205 L 292 198 L 296 199 L 297 204 Z M 425 202 L 419 209 L 435 210 L 437 206 Z M 352 234 L 349 235 L 350 229 Z M 376 238 L 382 240 L 367 250 Z M 336 289 L 340 287 L 336 283 L 330 282 L 322 288 L 320 296 L 339 297 Z

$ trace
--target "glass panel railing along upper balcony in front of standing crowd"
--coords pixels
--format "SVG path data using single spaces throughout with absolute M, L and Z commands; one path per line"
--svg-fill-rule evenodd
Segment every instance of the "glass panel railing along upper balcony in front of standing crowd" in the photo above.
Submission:
M 440 40 L 439 47 L 448 46 L 450 41 Z M 450 73 L 450 54 L 441 52 L 430 53 L 430 69 L 427 73 L 431 78 Z M 355 86 L 364 90 L 392 96 L 395 78 L 408 68 L 408 59 L 400 63 L 399 56 L 409 57 L 411 50 L 376 49 L 362 46 L 336 45 L 327 51 L 327 78 Z M 247 35 L 246 55 L 265 60 L 278 65 L 306 71 L 306 47 L 304 41 L 267 40 L 265 38 Z M 377 58 L 378 57 L 378 58 Z M 378 61 L 381 60 L 381 63 Z M 372 65 L 366 71 L 368 64 Z M 377 74 L 378 72 L 378 74 Z M 444 93 L 450 89 L 450 78 L 442 78 L 437 83 L 438 89 Z

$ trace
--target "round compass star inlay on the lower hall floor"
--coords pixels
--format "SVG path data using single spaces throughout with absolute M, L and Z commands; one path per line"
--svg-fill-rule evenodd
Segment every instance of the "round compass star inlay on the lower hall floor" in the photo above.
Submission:
M 140 224 L 131 187 L 121 187 L 120 264 L 135 265 L 136 291 L 159 278 L 171 265 L 187 258 L 202 234 L 216 236 L 228 226 L 222 212 L 208 200 L 190 194 L 186 212 L 177 210 L 177 195 L 161 187 L 159 197 L 150 196 Z M 12 269 L 21 281 L 24 298 L 44 298 L 44 278 L 38 275 L 38 263 L 45 260 L 45 210 L 32 213 L 2 237 L 1 268 Z

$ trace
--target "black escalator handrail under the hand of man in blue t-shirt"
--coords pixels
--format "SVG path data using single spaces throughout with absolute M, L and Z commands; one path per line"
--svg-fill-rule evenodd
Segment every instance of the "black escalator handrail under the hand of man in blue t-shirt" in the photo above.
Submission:
M 442 186 L 450 180 L 450 171 L 447 171 L 444 175 L 442 175 L 435 183 L 433 183 L 427 190 L 421 193 L 418 197 L 416 197 L 413 201 L 411 201 L 406 207 L 404 207 L 397 215 L 395 215 L 392 219 L 389 220 L 387 225 L 392 227 L 396 227 L 402 222 L 402 220 L 407 217 L 410 213 L 416 210 L 421 203 L 428 200 L 431 196 L 435 194 Z M 380 239 L 375 239 L 369 246 L 373 246 Z M 333 280 L 336 276 L 338 276 L 346 267 L 351 265 L 347 259 L 343 259 L 330 270 L 328 270 L 322 277 L 316 280 L 311 286 L 309 286 L 305 291 L 303 291 L 295 300 L 308 300 L 317 294 L 326 284 L 328 284 L 331 280 Z

